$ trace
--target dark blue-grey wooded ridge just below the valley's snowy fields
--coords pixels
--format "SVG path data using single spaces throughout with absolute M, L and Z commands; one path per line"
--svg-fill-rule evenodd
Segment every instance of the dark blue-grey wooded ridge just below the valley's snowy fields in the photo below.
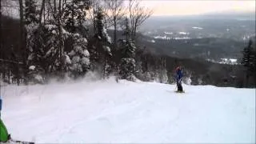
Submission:
M 139 42 L 158 54 L 178 58 L 241 58 L 246 42 L 228 38 L 154 39 L 139 38 Z

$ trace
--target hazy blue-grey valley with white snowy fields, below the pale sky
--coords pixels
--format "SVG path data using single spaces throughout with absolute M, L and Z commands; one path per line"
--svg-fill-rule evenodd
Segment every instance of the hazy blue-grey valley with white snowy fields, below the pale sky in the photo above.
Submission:
M 153 17 L 140 31 L 140 42 L 157 54 L 211 62 L 238 62 L 249 39 L 255 41 L 255 21 L 248 17 Z

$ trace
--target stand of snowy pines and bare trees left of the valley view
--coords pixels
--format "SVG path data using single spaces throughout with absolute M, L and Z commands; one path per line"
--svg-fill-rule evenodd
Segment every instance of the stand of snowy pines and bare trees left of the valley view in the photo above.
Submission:
M 145 49 L 136 42 L 138 27 L 153 12 L 140 0 L 126 4 L 124 0 L 18 0 L 18 4 L 19 18 L 14 21 L 16 27 L 11 27 L 17 31 L 11 36 L 15 42 L 8 39 L 5 29 L 11 18 L 1 14 L 7 19 L 0 26 L 6 37 L 2 40 L 0 35 L 5 82 L 77 79 L 88 71 L 98 72 L 101 78 L 115 74 L 132 81 L 149 75 L 150 70 L 142 70 Z M 117 36 L 120 31 L 122 37 Z

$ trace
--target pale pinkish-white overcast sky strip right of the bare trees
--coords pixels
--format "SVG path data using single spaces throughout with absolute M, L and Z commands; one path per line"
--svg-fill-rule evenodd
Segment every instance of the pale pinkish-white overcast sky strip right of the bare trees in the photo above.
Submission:
M 255 0 L 143 0 L 153 15 L 193 15 L 222 11 L 255 11 Z

